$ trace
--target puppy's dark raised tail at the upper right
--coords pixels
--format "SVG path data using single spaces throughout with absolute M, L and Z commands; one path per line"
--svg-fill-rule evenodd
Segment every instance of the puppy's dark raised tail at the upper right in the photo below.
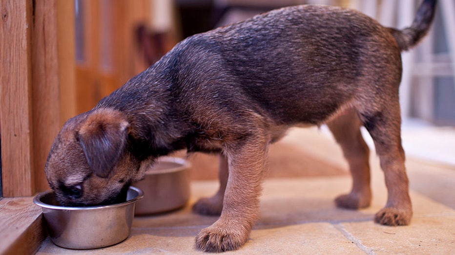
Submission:
M 391 28 L 392 35 L 395 37 L 401 51 L 411 49 L 427 35 L 433 22 L 436 2 L 437 0 L 424 0 L 417 10 L 417 15 L 411 27 L 403 30 Z

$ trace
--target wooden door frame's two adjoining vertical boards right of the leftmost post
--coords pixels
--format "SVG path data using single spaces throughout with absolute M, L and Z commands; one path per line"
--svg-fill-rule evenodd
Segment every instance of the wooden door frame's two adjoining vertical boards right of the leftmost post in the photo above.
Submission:
M 63 122 L 76 111 L 74 4 L 36 1 L 32 33 L 35 192 L 49 188 L 44 166 Z

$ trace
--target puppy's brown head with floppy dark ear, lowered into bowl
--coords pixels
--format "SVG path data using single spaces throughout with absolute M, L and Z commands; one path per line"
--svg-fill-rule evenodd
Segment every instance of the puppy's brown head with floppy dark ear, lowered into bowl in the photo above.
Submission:
M 124 200 L 142 178 L 140 162 L 126 149 L 129 124 L 113 109 L 69 119 L 49 152 L 45 172 L 62 205 L 97 205 Z

